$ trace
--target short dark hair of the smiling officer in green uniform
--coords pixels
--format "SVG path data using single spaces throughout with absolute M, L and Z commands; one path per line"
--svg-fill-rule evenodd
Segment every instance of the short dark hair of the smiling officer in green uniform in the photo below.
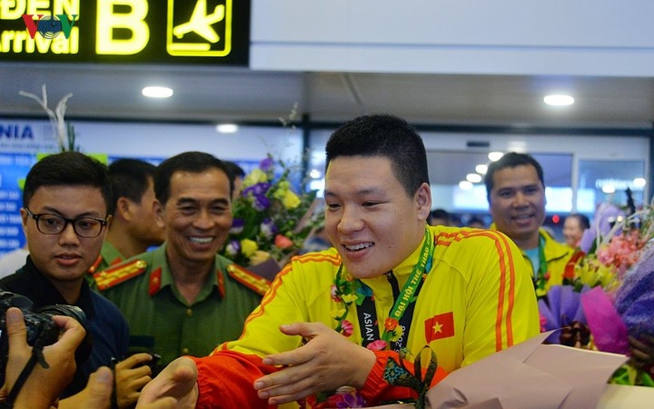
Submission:
M 160 204 L 165 203 L 170 198 L 170 178 L 177 171 L 186 171 L 191 173 L 200 173 L 207 169 L 220 169 L 227 175 L 230 181 L 230 196 L 234 190 L 234 181 L 230 178 L 230 170 L 225 162 L 215 156 L 205 152 L 182 152 L 171 158 L 167 158 L 157 166 L 154 173 L 154 195 Z

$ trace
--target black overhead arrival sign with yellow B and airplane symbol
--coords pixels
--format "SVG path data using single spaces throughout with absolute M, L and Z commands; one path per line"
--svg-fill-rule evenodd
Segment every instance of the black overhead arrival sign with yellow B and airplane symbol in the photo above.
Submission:
M 0 60 L 247 65 L 249 0 L 0 0 Z

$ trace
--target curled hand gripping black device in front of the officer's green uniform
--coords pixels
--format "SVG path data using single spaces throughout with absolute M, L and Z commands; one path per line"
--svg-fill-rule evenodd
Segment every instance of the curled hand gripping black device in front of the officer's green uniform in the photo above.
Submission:
M 152 361 L 149 353 L 135 353 L 116 364 L 116 402 L 119 408 L 129 408 L 139 399 L 141 389 L 152 380 L 150 366 L 141 365 Z M 140 365 L 140 366 L 137 366 Z

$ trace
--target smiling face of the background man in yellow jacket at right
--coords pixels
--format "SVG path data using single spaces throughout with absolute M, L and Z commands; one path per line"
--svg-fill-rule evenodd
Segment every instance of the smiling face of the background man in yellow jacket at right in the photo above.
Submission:
M 538 247 L 538 228 L 545 221 L 545 189 L 531 165 L 504 168 L 493 175 L 490 214 L 497 230 L 521 249 Z

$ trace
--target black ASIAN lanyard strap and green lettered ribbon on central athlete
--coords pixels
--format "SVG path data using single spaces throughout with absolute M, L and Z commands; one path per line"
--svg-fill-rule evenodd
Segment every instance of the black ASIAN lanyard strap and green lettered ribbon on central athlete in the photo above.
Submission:
M 400 286 L 392 272 L 387 273 L 388 282 L 393 290 L 394 305 L 388 313 L 388 318 L 399 323 L 398 327 L 404 329 L 403 334 L 393 342 L 390 341 L 391 333 L 387 325 L 382 336 L 379 336 L 379 326 L 377 323 L 377 310 L 375 310 L 375 300 L 373 297 L 368 296 L 364 298 L 356 313 L 359 319 L 359 327 L 361 329 L 362 346 L 368 346 L 375 340 L 384 340 L 390 344 L 391 349 L 400 351 L 401 348 L 407 345 L 409 338 L 409 327 L 411 326 L 411 319 L 413 319 L 413 309 L 415 308 L 415 300 L 422 288 L 424 281 L 424 274 L 427 274 L 432 268 L 432 256 L 434 254 L 434 239 L 432 238 L 429 228 L 425 229 L 426 239 L 422 245 L 420 258 L 417 264 L 413 266 L 413 271 L 404 284 L 402 292 Z M 362 285 L 364 285 L 362 283 Z M 384 323 L 386 324 L 386 323 Z M 392 329 L 390 329 L 392 331 Z

